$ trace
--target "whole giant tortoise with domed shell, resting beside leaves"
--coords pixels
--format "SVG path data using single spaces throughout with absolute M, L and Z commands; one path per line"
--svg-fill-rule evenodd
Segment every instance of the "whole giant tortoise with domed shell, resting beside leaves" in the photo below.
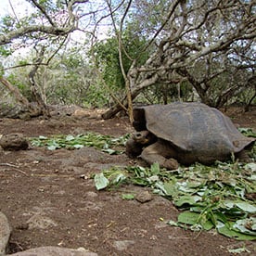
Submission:
M 241 160 L 255 138 L 241 134 L 218 109 L 202 103 L 176 102 L 134 108 L 134 129 L 126 154 L 173 170 L 178 163 L 211 164 L 232 155 Z M 248 156 L 247 156 L 248 157 Z

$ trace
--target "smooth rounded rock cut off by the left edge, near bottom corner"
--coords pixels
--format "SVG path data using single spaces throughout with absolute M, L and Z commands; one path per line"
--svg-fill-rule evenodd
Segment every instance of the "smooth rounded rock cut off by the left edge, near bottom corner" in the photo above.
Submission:
M 0 255 L 5 255 L 11 228 L 6 215 L 0 211 Z

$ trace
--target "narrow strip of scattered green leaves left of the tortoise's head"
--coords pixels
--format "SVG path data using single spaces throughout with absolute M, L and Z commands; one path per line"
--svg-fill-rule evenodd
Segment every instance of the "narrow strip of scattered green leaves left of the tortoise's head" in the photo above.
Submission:
M 79 149 L 82 147 L 96 147 L 109 154 L 122 154 L 125 142 L 128 135 L 123 135 L 118 138 L 109 135 L 102 135 L 96 133 L 85 133 L 78 135 L 58 134 L 51 137 L 39 136 L 31 139 L 34 147 L 47 147 L 49 150 L 56 150 L 59 148 Z

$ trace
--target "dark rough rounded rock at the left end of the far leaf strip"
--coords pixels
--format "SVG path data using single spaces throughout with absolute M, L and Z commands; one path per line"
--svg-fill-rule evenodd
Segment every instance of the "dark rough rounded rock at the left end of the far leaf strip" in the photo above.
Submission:
M 4 150 L 16 151 L 27 149 L 29 143 L 24 138 L 23 134 L 6 134 L 1 137 L 0 146 L 3 147 Z

